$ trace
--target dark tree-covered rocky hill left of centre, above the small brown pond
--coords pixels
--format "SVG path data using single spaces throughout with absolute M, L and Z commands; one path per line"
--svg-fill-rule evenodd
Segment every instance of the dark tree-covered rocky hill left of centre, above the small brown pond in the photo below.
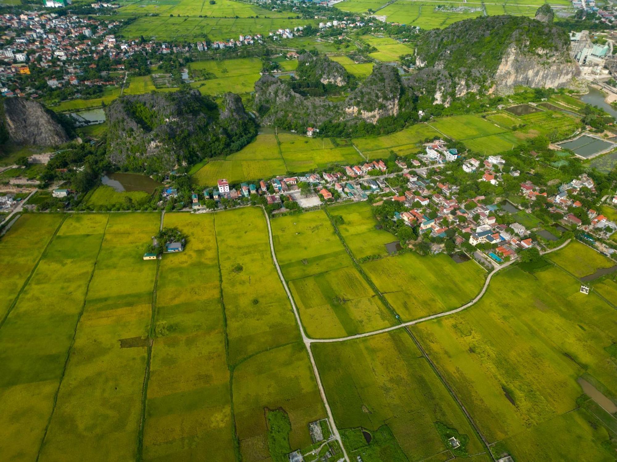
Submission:
M 257 134 L 238 95 L 224 95 L 218 107 L 197 90 L 120 97 L 107 108 L 107 126 L 110 160 L 134 171 L 226 155 Z

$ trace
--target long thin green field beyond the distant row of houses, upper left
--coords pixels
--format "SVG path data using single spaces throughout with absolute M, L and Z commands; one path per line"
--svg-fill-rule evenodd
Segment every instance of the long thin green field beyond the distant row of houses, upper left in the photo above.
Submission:
M 268 14 L 270 16 L 270 14 Z M 142 16 L 122 29 L 126 39 L 156 38 L 159 41 L 225 40 L 237 38 L 239 33 L 267 35 L 280 28 L 294 28 L 315 20 L 287 18 L 233 18 L 233 17 L 168 17 Z

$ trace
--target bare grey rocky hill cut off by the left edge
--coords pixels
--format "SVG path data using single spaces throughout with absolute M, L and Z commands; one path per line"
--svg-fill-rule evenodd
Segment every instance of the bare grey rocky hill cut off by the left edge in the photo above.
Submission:
M 56 115 L 36 101 L 4 99 L 4 131 L 15 144 L 52 146 L 69 140 Z

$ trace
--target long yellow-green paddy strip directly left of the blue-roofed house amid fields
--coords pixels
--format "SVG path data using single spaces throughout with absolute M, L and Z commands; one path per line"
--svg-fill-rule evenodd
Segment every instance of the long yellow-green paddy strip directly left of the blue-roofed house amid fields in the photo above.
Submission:
M 156 264 L 158 213 L 109 216 L 39 460 L 135 459 Z M 135 341 L 133 347 L 123 342 Z

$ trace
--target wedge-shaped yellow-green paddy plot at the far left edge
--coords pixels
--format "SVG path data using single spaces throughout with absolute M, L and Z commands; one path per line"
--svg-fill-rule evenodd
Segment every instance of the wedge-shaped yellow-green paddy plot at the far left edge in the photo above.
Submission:
M 19 295 L 61 221 L 62 218 L 55 214 L 25 214 L 0 240 L 0 261 L 10 261 L 10 265 L 0 265 L 0 319 Z

